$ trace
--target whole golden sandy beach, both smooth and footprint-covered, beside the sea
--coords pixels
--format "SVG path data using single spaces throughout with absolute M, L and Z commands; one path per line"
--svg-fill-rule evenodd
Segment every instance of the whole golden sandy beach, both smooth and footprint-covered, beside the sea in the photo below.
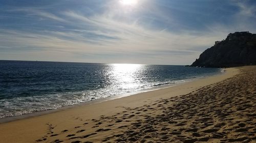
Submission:
M 256 66 L 0 124 L 0 142 L 255 142 Z

